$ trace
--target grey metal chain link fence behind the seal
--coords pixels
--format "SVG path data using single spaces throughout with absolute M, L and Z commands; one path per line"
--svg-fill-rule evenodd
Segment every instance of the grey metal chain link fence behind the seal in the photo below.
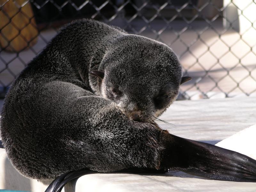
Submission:
M 0 96 L 63 24 L 101 20 L 169 45 L 185 76 L 179 99 L 256 95 L 252 0 L 0 0 Z

